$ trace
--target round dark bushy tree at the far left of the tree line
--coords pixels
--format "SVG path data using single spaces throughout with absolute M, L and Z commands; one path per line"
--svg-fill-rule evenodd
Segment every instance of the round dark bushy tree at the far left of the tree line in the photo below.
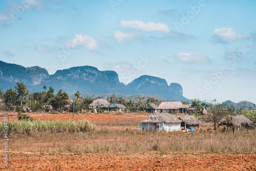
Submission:
M 8 108 L 12 108 L 13 112 L 17 108 L 17 101 L 18 96 L 15 90 L 9 89 L 5 92 L 4 103 L 6 104 L 6 106 L 8 106 Z

